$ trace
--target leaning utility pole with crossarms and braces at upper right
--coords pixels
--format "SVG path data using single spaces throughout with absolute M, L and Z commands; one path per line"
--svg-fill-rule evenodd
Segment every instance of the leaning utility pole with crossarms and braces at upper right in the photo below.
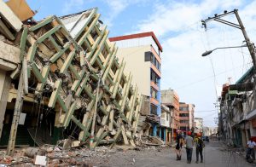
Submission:
M 222 17 L 230 15 L 230 14 L 235 14 L 236 15 L 236 19 L 238 21 L 238 24 L 221 19 Z M 241 32 L 243 34 L 243 37 L 245 39 L 245 42 L 247 43 L 247 48 L 249 49 L 250 55 L 252 57 L 253 66 L 256 67 L 255 47 L 254 47 L 253 43 L 251 43 L 249 37 L 247 36 L 247 32 L 245 30 L 245 27 L 243 26 L 241 18 L 240 18 L 239 14 L 238 14 L 238 9 L 234 9 L 233 11 L 230 11 L 230 12 L 227 12 L 225 10 L 224 14 L 214 14 L 213 17 L 208 17 L 207 20 L 201 20 L 202 26 L 204 26 L 204 28 L 206 30 L 207 30 L 207 22 L 211 21 L 211 20 L 216 20 L 216 21 L 218 21 L 220 23 L 223 23 L 223 24 L 228 25 L 228 26 L 233 26 L 233 27 L 238 28 L 238 29 L 241 30 Z

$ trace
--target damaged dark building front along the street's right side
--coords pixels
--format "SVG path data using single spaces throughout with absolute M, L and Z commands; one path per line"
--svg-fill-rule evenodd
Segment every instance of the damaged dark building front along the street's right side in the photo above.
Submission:
M 256 139 L 255 70 L 250 68 L 235 84 L 225 83 L 218 100 L 218 135 L 227 144 L 246 147 Z

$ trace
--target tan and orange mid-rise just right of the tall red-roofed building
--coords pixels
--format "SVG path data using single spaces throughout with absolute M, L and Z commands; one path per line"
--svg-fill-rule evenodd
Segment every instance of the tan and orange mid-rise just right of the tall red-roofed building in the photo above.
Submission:
M 173 89 L 161 90 L 161 102 L 166 107 L 170 108 L 171 111 L 171 130 L 172 130 L 172 141 L 176 140 L 179 129 L 179 97 Z

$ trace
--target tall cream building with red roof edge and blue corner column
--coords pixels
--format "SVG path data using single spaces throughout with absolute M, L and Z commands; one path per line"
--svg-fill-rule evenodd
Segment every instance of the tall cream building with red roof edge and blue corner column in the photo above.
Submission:
M 143 32 L 119 37 L 110 37 L 119 47 L 117 56 L 125 60 L 125 72 L 133 75 L 132 83 L 137 84 L 143 95 L 141 114 L 154 117 L 152 129 L 146 135 L 160 135 L 160 53 L 163 51 L 154 32 Z

